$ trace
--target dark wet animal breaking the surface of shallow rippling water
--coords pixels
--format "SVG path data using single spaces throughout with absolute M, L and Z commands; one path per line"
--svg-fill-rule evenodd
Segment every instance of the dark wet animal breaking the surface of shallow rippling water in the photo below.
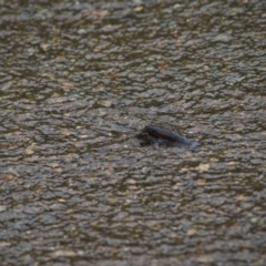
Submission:
M 135 135 L 145 144 L 155 144 L 166 147 L 185 147 L 188 150 L 195 150 L 201 144 L 182 136 L 173 131 L 164 130 L 155 125 L 146 126 L 140 134 Z

